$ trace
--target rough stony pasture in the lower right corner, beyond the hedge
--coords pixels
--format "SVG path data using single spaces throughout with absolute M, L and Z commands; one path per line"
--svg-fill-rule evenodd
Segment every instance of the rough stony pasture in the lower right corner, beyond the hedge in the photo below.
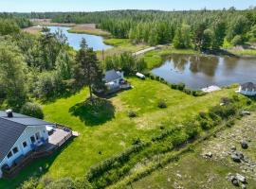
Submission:
M 237 121 L 232 128 L 220 131 L 215 137 L 197 146 L 193 152 L 181 156 L 177 162 L 169 163 L 150 176 L 133 183 L 133 188 L 236 188 L 227 180 L 229 173 L 246 176 L 247 188 L 256 188 L 255 168 L 247 166 L 246 163 L 233 163 L 229 158 L 230 147 L 236 146 L 247 159 L 255 163 L 255 124 L 254 112 L 251 116 Z M 240 146 L 242 139 L 250 141 L 248 149 Z M 212 152 L 212 159 L 202 156 L 208 152 Z

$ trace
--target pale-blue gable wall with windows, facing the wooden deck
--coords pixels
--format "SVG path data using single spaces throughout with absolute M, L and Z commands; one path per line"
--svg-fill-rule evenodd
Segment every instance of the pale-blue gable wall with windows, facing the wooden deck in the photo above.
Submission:
M 22 155 L 26 155 L 27 152 L 32 150 L 32 148 L 31 148 L 32 142 L 30 140 L 30 137 L 34 136 L 36 138 L 35 134 L 37 132 L 40 133 L 40 139 L 39 140 L 41 140 L 42 137 L 44 137 L 44 139 L 46 141 L 48 140 L 48 133 L 46 131 L 46 126 L 27 127 L 27 129 L 24 130 L 24 132 L 22 133 L 20 138 L 16 141 L 15 145 L 12 146 L 12 148 L 11 148 L 11 150 L 12 150 L 14 147 L 17 146 L 19 151 L 16 154 L 14 154 L 12 152 L 12 156 L 10 158 L 8 158 L 6 156 L 4 158 L 4 160 L 0 163 L 0 178 L 2 177 L 1 167 L 4 164 L 7 163 L 9 166 L 11 166 L 17 158 L 19 158 Z M 26 147 L 23 146 L 24 142 L 27 142 Z

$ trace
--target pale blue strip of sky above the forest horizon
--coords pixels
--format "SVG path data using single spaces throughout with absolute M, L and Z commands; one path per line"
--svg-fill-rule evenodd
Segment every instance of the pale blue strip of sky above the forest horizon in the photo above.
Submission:
M 256 7 L 256 0 L 0 0 L 0 11 L 97 11 L 110 9 L 224 9 Z

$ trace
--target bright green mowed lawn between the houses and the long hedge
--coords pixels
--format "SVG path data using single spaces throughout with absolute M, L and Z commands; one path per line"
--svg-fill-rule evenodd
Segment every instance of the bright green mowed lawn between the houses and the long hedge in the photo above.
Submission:
M 101 125 L 86 125 L 86 120 L 72 114 L 72 108 L 88 97 L 86 88 L 78 94 L 45 104 L 43 108 L 47 121 L 66 125 L 81 135 L 54 156 L 31 163 L 14 180 L 1 180 L 0 188 L 14 188 L 29 176 L 42 175 L 39 173 L 40 166 L 45 169 L 44 175 L 53 179 L 83 177 L 90 166 L 131 146 L 133 139 L 150 140 L 160 132 L 161 126 L 166 129 L 174 127 L 198 112 L 207 111 L 218 104 L 221 97 L 232 95 L 235 91 L 225 89 L 194 97 L 155 80 L 134 77 L 128 80 L 134 88 L 109 99 L 115 107 L 115 116 Z M 159 109 L 159 100 L 165 100 L 168 108 Z M 127 112 L 131 110 L 137 112 L 137 118 L 128 117 Z

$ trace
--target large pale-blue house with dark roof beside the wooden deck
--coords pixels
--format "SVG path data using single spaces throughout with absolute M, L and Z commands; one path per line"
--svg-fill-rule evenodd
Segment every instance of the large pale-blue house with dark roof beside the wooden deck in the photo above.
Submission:
M 11 166 L 29 151 L 48 143 L 47 126 L 55 124 L 11 111 L 0 111 L 0 178 L 3 166 Z

